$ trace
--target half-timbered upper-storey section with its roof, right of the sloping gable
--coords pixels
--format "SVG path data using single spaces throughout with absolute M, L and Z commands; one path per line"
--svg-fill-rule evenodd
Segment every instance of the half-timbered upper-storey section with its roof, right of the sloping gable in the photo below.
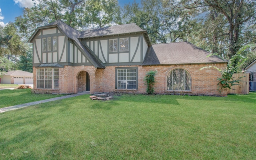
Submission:
M 88 29 L 79 39 L 105 66 L 141 65 L 150 41 L 136 24 Z

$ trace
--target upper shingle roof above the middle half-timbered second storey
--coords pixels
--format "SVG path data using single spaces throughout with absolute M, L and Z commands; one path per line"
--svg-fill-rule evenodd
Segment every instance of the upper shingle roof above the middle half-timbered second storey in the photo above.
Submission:
M 116 26 L 108 26 L 103 28 L 93 28 L 87 29 L 81 32 L 79 38 L 92 38 L 92 37 L 100 37 L 100 36 L 110 36 L 116 34 L 127 34 L 127 33 L 135 33 L 135 32 L 146 32 L 146 30 L 142 30 L 135 23 L 130 24 L 122 24 Z

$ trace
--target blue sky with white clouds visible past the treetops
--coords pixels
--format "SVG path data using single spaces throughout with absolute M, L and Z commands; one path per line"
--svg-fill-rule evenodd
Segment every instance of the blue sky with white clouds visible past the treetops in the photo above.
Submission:
M 136 0 L 139 1 L 139 0 Z M 132 3 L 134 0 L 118 0 L 120 6 Z M 0 0 L 0 26 L 14 22 L 15 17 L 22 16 L 25 7 L 32 7 L 32 0 Z

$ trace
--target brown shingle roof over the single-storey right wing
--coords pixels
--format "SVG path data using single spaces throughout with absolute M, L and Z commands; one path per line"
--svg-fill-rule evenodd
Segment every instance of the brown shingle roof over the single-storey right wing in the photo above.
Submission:
M 218 56 L 207 57 L 209 54 L 189 42 L 152 44 L 142 65 L 226 63 Z

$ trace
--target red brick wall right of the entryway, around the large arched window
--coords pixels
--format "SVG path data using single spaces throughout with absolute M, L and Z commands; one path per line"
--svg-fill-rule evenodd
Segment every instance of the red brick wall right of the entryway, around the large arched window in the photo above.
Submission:
M 115 69 L 116 66 L 108 66 L 105 69 L 97 69 L 95 73 L 95 92 L 133 92 L 146 94 L 146 85 L 144 84 L 144 76 L 150 70 L 157 70 L 156 83 L 154 85 L 154 93 L 156 94 L 174 94 L 172 91 L 167 91 L 166 78 L 168 73 L 174 68 L 183 68 L 191 75 L 191 91 L 184 91 L 182 94 L 190 95 L 216 95 L 226 96 L 227 91 L 218 92 L 218 77 L 221 74 L 214 68 L 200 70 L 206 64 L 193 65 L 170 65 L 170 66 L 118 66 L 118 67 L 138 67 L 138 90 L 120 90 L 115 89 Z M 219 68 L 225 68 L 226 64 L 216 64 Z M 180 94 L 176 92 L 175 94 Z

